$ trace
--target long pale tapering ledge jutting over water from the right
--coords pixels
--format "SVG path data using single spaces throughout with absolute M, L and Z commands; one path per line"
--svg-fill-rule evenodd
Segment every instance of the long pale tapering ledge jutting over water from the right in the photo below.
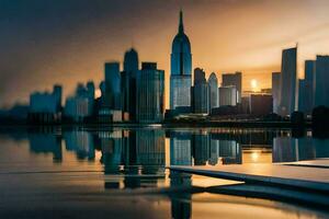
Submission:
M 169 166 L 171 171 L 329 194 L 329 170 L 276 164 Z

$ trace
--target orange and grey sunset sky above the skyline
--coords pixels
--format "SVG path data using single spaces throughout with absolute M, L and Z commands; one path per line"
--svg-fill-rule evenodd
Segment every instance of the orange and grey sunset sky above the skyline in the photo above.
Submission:
M 166 71 L 180 8 L 192 44 L 193 68 L 242 71 L 271 87 L 283 48 L 298 42 L 304 60 L 329 54 L 328 0 L 0 0 L 0 106 L 27 102 L 33 91 L 104 78 L 104 61 L 122 61 L 132 45 L 141 61 Z

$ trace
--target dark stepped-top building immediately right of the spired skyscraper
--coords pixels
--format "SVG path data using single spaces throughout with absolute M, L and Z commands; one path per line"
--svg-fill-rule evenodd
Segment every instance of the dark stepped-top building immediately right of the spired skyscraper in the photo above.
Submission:
M 194 69 L 194 87 L 192 88 L 192 108 L 197 114 L 209 113 L 209 92 L 208 83 L 205 79 L 205 72 L 196 68 Z

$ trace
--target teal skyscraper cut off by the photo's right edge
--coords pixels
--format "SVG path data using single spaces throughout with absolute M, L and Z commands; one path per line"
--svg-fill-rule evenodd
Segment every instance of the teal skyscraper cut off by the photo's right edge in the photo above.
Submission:
M 329 107 L 329 56 L 317 56 L 315 76 L 315 107 Z

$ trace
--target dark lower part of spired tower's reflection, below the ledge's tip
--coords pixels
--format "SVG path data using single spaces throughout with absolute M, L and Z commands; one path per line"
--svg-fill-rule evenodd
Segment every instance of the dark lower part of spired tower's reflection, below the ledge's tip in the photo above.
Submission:
M 170 172 L 171 187 L 191 187 L 192 181 L 190 174 Z M 188 219 L 191 218 L 192 203 L 191 193 L 172 193 L 171 198 L 171 218 Z

